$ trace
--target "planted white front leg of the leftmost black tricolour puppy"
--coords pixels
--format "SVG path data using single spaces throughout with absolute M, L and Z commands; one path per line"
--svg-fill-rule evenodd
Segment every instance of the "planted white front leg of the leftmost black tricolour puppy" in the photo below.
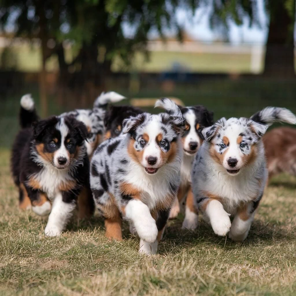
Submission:
M 74 194 L 69 192 L 57 194 L 44 230 L 45 235 L 55 237 L 62 233 L 76 207 L 76 198 Z

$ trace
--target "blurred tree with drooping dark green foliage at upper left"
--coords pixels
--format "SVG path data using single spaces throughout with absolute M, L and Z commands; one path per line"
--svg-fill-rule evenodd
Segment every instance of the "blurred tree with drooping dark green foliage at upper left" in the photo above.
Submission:
M 42 51 L 40 94 L 46 113 L 45 64 L 52 54 L 59 62 L 60 81 L 70 83 L 69 67 L 75 69 L 75 87 L 86 83 L 102 83 L 110 71 L 112 59 L 120 57 L 130 65 L 135 52 L 147 52 L 147 38 L 157 30 L 171 28 L 181 38 L 176 20 L 176 7 L 190 8 L 192 13 L 199 0 L 0 0 L 2 31 L 13 27 L 15 36 L 39 38 Z M 131 28 L 131 36 L 123 34 L 123 26 Z M 77 50 L 67 62 L 63 41 L 69 40 Z M 49 41 L 55 46 L 49 47 Z M 53 41 L 53 42 L 52 42 Z

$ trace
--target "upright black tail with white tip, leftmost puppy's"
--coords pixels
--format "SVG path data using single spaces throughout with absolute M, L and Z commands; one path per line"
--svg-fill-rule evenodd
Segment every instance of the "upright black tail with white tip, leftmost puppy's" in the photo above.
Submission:
M 34 100 L 30 94 L 25 94 L 20 99 L 20 126 L 28 128 L 38 120 L 39 116 L 36 113 Z

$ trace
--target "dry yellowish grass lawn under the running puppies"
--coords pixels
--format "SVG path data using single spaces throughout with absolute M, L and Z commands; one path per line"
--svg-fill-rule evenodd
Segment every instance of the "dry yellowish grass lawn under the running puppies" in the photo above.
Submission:
M 180 217 L 148 258 L 126 226 L 123 242 L 108 241 L 98 217 L 44 237 L 46 219 L 18 210 L 7 150 L 0 166 L 0 295 L 295 295 L 294 178 L 266 189 L 244 243 L 203 223 L 181 232 Z

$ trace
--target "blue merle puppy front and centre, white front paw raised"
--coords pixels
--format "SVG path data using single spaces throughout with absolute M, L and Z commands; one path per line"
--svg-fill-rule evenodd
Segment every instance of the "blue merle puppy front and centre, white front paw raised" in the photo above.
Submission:
M 185 121 L 169 99 L 123 121 L 123 135 L 104 141 L 91 160 L 94 201 L 105 218 L 106 236 L 122 239 L 122 219 L 140 237 L 140 252 L 155 254 L 180 185 Z

